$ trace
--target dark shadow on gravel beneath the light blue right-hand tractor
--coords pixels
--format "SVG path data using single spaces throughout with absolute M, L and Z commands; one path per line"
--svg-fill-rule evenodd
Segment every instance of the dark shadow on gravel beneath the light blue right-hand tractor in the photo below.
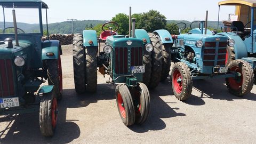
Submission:
M 235 99 L 246 99 L 256 101 L 256 94 L 249 93 L 243 97 L 237 97 L 228 92 L 227 86 L 225 84 L 225 79 L 206 79 L 206 80 L 195 80 L 193 81 L 193 91 L 198 91 L 201 95 L 196 95 L 197 97 L 220 99 L 233 101 Z

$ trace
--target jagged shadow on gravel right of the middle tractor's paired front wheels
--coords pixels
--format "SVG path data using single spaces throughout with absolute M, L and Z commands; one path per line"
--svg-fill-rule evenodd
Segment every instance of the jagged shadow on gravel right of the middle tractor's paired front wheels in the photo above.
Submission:
M 161 88 L 160 88 L 161 87 Z M 170 85 L 159 84 L 158 88 L 153 91 L 150 91 L 150 114 L 148 119 L 142 125 L 132 125 L 129 127 L 130 130 L 137 133 L 144 133 L 150 131 L 163 130 L 166 127 L 166 124 L 162 118 L 172 118 L 176 116 L 186 116 L 183 113 L 176 113 L 175 110 L 179 108 L 172 108 L 167 103 L 174 102 L 165 102 L 160 97 L 162 95 L 170 95 L 172 92 Z M 168 93 L 168 94 L 167 94 Z

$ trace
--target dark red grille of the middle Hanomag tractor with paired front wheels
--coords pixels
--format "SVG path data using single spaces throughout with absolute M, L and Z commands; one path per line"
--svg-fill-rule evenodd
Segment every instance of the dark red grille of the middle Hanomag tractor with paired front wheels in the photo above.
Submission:
M 131 61 L 128 57 L 129 52 Z M 115 47 L 115 73 L 127 74 L 129 62 L 131 62 L 131 66 L 142 66 L 142 47 Z

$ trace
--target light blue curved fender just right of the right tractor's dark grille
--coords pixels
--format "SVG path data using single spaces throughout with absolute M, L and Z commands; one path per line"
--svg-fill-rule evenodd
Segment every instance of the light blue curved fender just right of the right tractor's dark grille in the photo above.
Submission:
M 248 57 L 246 45 L 243 42 L 243 39 L 239 37 L 238 35 L 234 35 L 234 33 L 218 33 L 216 35 L 222 35 L 226 36 L 228 39 L 234 39 L 235 40 L 235 45 L 234 45 L 234 50 L 235 50 L 235 58 L 236 59 L 242 59 Z

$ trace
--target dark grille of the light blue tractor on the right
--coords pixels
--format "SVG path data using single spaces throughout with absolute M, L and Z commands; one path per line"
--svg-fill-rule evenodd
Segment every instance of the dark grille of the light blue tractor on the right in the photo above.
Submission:
M 227 42 L 205 42 L 204 43 L 204 55 L 203 55 L 203 65 L 204 66 L 216 66 L 225 65 L 226 60 L 226 49 Z

